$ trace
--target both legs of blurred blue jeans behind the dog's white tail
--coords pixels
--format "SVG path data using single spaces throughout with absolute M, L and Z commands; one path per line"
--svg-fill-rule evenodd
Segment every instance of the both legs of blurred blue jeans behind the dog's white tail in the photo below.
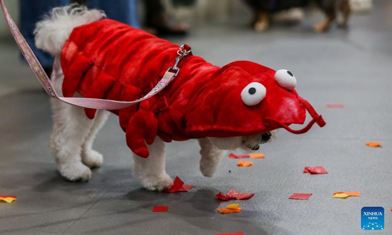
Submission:
M 51 8 L 69 5 L 70 0 L 19 0 L 19 4 L 21 33 L 25 37 L 28 46 L 31 47 L 35 56 L 37 56 L 42 67 L 51 68 L 53 57 L 35 47 L 33 31 L 35 24 L 42 20 L 43 16 Z M 87 6 L 89 8 L 103 10 L 109 19 L 140 28 L 136 0 L 87 0 Z

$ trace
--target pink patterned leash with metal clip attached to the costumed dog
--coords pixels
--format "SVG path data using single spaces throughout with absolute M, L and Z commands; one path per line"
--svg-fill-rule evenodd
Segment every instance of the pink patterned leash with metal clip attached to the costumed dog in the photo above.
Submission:
M 112 109 L 122 109 L 128 106 L 134 105 L 139 103 L 143 100 L 148 99 L 149 97 L 157 94 L 162 89 L 164 89 L 172 79 L 178 74 L 180 70 L 177 67 L 178 62 L 186 55 L 191 52 L 191 48 L 188 45 L 183 45 L 177 51 L 177 59 L 174 66 L 170 67 L 163 78 L 159 81 L 159 83 L 143 98 L 134 100 L 134 101 L 117 101 L 117 100 L 107 100 L 107 99 L 95 99 L 95 98 L 74 98 L 74 97 L 60 97 L 57 95 L 56 91 L 52 83 L 50 82 L 49 77 L 46 75 L 44 69 L 42 69 L 41 64 L 38 62 L 37 57 L 35 57 L 34 53 L 32 52 L 31 48 L 27 45 L 25 38 L 22 36 L 21 32 L 19 31 L 18 27 L 16 26 L 14 20 L 12 19 L 11 15 L 8 13 L 7 8 L 4 5 L 4 0 L 0 0 L 1 8 L 3 10 L 5 21 L 8 24 L 9 29 L 11 30 L 12 36 L 14 37 L 16 44 L 21 49 L 23 56 L 25 57 L 28 65 L 30 66 L 31 70 L 34 72 L 35 76 L 41 83 L 41 85 L 45 88 L 45 91 L 51 95 L 53 98 L 59 99 L 65 103 L 77 105 L 84 108 L 91 108 L 91 109 L 105 109 L 105 110 L 112 110 Z M 53 73 L 52 78 L 56 76 L 60 72 L 60 66 L 54 65 L 53 66 Z M 174 72 L 171 72 L 174 71 Z

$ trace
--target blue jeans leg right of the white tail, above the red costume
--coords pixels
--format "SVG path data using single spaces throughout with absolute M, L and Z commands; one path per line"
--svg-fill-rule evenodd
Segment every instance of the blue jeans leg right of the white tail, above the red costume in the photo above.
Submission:
M 87 7 L 103 10 L 109 19 L 140 28 L 136 3 L 136 0 L 87 0 Z

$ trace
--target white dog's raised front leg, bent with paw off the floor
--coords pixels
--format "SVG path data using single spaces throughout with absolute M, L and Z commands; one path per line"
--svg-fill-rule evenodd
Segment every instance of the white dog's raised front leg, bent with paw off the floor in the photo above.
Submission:
M 216 147 L 209 138 L 201 138 L 198 141 L 201 155 L 200 171 L 204 176 L 212 177 L 227 151 Z

